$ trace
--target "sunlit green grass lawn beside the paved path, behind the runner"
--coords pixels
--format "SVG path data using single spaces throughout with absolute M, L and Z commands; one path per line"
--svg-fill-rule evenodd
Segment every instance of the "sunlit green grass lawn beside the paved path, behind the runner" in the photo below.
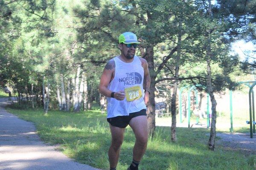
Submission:
M 111 136 L 106 115 L 100 110 L 80 113 L 19 111 L 20 118 L 34 122 L 42 140 L 61 144 L 61 151 L 76 161 L 108 170 Z M 170 142 L 170 127 L 157 127 L 140 164 L 140 170 L 255 170 L 256 156 L 216 146 L 207 150 L 209 129 L 177 128 L 177 142 Z M 218 140 L 218 138 L 217 138 Z M 132 159 L 135 137 L 126 129 L 117 170 L 126 170 Z

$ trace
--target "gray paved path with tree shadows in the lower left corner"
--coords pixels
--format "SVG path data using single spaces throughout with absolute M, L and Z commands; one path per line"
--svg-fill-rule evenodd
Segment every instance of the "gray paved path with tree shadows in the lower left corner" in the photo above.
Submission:
M 7 113 L 0 98 L 0 170 L 98 170 L 42 142 L 31 122 Z

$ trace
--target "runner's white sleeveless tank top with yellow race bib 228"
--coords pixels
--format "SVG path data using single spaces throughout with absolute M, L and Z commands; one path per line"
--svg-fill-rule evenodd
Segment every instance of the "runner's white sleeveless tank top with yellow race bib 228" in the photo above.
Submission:
M 114 92 L 125 91 L 125 99 L 119 101 L 108 97 L 108 116 L 128 116 L 129 113 L 147 109 L 144 102 L 143 79 L 144 69 L 138 56 L 130 63 L 123 62 L 118 57 L 113 58 L 116 64 L 115 76 L 108 85 Z

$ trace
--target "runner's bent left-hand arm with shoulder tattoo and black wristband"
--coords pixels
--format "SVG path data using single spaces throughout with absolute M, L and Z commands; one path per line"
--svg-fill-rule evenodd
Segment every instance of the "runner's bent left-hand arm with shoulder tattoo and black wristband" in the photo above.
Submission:
M 113 73 L 115 71 L 115 68 L 116 68 L 115 61 L 113 59 L 109 60 L 108 63 L 105 65 L 105 68 L 102 73 L 102 77 L 99 82 L 99 93 L 101 93 L 106 97 L 111 97 L 111 93 L 113 92 L 108 89 L 108 85 L 111 82 L 111 80 L 114 78 Z M 114 98 L 117 100 L 123 100 L 125 98 L 125 94 L 122 91 L 115 92 Z

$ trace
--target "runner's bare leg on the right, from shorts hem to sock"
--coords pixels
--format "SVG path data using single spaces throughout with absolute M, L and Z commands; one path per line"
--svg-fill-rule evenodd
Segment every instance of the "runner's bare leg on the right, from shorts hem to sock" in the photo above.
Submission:
M 131 119 L 129 125 L 134 131 L 136 142 L 133 149 L 133 163 L 140 163 L 148 143 L 148 121 L 147 116 L 137 116 Z

